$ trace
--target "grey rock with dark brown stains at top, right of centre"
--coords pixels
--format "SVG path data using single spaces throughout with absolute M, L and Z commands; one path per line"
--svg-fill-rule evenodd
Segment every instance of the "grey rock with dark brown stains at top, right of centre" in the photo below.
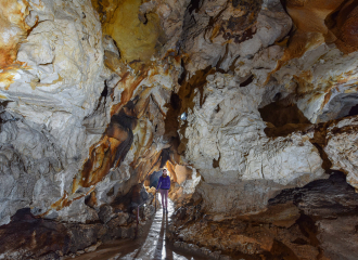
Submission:
M 251 15 L 247 15 L 247 13 Z M 207 66 L 228 70 L 239 56 L 252 56 L 291 29 L 280 1 L 203 1 L 184 16 L 182 48 L 190 54 L 187 69 Z

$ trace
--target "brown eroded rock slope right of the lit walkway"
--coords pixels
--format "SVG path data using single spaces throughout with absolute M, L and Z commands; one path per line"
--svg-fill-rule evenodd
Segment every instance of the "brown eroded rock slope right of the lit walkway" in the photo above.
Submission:
M 267 211 L 258 214 L 217 219 L 217 214 L 206 214 L 201 199 L 193 197 L 177 210 L 171 238 L 220 250 L 233 259 L 357 258 L 357 194 L 342 172 L 282 191 L 269 200 Z

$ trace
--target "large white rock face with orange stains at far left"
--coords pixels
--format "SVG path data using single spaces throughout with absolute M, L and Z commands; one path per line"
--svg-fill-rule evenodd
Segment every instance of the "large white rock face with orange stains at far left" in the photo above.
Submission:
M 110 104 L 93 115 L 110 76 L 91 2 L 29 1 L 26 23 L 34 28 L 17 53 L 23 66 L 11 84 L 0 83 L 11 100 L 1 112 L 0 224 L 20 208 L 39 214 L 59 200 L 105 129 L 91 132 L 86 123 L 105 127 L 110 119 Z M 76 220 L 82 213 L 66 214 Z

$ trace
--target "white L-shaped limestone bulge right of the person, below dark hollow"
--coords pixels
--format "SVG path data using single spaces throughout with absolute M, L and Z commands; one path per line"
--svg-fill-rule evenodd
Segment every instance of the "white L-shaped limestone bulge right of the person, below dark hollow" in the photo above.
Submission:
M 304 185 L 322 177 L 322 159 L 310 143 L 312 136 L 309 133 L 296 132 L 276 139 L 266 136 L 266 123 L 258 112 L 264 89 L 254 83 L 256 80 L 244 88 L 240 87 L 238 77 L 230 75 L 216 73 L 207 76 L 206 80 L 203 93 L 197 92 L 193 100 L 195 105 L 188 113 L 183 136 L 188 140 L 186 157 L 206 183 L 215 183 L 212 188 L 217 186 L 222 199 L 229 191 L 235 196 L 233 191 L 239 191 L 245 181 L 266 181 L 257 190 L 261 190 L 257 196 L 261 193 L 265 198 L 259 200 L 264 203 L 270 190 L 267 186 Z M 218 186 L 220 184 L 233 187 L 223 192 Z M 221 197 L 219 194 L 216 196 Z M 255 205 L 259 202 L 252 200 Z M 213 209 L 225 211 L 223 204 L 218 205 L 220 203 L 222 200 L 216 200 Z M 245 204 L 250 208 L 247 200 Z

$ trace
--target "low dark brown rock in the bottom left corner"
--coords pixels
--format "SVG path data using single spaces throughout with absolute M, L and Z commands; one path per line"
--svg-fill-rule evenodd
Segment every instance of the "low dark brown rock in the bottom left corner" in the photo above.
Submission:
M 107 231 L 100 224 L 65 224 L 35 218 L 29 208 L 12 217 L 12 222 L 0 227 L 0 257 L 3 259 L 57 259 L 85 248 L 100 245 L 98 238 Z M 51 235 L 49 235 L 51 234 Z

